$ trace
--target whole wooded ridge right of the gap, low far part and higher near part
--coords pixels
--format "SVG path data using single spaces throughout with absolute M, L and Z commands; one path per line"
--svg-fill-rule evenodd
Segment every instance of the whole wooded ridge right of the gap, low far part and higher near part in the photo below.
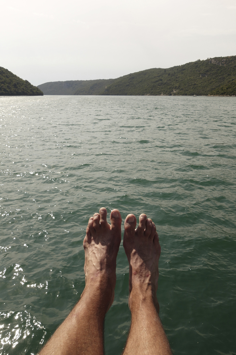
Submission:
M 236 95 L 236 56 L 154 68 L 109 80 L 57 81 L 38 86 L 46 95 Z

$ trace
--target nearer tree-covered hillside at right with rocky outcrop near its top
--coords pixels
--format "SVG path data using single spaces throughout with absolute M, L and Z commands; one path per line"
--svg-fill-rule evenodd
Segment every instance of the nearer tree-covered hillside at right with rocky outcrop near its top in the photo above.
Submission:
M 103 95 L 236 95 L 236 56 L 125 75 Z

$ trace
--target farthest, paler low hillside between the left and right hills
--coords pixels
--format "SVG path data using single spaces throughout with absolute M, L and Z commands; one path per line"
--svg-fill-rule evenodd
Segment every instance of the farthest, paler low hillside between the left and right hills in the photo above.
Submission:
M 44 95 L 100 95 L 115 79 L 51 81 L 38 85 Z

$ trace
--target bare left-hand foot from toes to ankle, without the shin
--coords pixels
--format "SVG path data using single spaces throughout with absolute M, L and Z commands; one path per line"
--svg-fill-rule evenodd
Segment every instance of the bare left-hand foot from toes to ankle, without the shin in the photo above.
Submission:
M 114 301 L 116 284 L 116 257 L 121 242 L 121 215 L 118 209 L 110 214 L 111 224 L 107 222 L 107 210 L 102 207 L 88 221 L 84 239 L 85 250 L 85 290 L 96 287 L 104 292 L 105 307 L 109 310 Z M 94 290 L 95 286 L 95 290 Z M 81 297 L 82 297 L 81 295 Z

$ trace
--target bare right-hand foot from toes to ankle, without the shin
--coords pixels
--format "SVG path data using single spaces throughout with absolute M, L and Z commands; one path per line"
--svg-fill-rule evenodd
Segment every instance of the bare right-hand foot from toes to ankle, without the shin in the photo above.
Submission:
M 158 261 L 161 254 L 159 237 L 155 224 L 145 214 L 136 217 L 128 214 L 125 219 L 123 246 L 129 262 L 129 308 L 132 307 L 133 295 L 152 297 L 157 312 L 159 303 L 156 298 L 158 287 Z

